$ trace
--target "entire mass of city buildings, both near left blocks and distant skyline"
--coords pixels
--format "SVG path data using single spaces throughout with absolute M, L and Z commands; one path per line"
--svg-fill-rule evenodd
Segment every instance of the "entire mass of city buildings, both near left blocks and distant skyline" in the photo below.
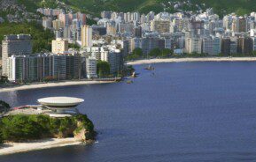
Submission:
M 97 25 L 86 25 L 81 12 L 40 9 L 43 26 L 56 35 L 52 50 L 32 55 L 31 37 L 6 35 L 2 42 L 3 75 L 10 80 L 97 77 L 97 61 L 111 65 L 111 74 L 123 70 L 124 57 L 141 48 L 168 48 L 176 55 L 252 55 L 256 51 L 256 13 L 219 18 L 212 9 L 199 14 L 182 12 L 103 11 Z M 75 43 L 80 49 L 68 48 Z

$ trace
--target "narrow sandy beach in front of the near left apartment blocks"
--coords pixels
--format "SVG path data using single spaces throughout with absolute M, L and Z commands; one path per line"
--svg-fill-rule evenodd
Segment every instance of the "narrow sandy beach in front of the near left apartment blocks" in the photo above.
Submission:
M 29 89 L 39 89 L 46 87 L 57 87 L 57 86 L 68 86 L 68 85 L 95 85 L 95 84 L 107 84 L 114 83 L 114 81 L 66 81 L 59 83 L 47 83 L 47 84 L 36 84 L 36 85 L 20 85 L 8 88 L 0 88 L 0 92 L 12 92 Z

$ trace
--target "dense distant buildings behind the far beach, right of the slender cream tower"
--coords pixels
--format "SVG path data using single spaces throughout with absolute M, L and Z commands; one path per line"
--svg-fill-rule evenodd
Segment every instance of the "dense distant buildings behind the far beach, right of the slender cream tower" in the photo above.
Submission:
M 105 28 L 107 36 L 128 40 L 128 53 L 142 48 L 147 55 L 153 48 L 170 48 L 176 54 L 251 55 L 256 50 L 255 15 L 219 18 L 213 9 L 190 15 L 103 11 L 97 26 Z

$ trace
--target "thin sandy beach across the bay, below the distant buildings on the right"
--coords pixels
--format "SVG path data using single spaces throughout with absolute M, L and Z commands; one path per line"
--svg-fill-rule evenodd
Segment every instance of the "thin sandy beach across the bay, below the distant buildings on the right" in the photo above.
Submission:
M 181 63 L 181 62 L 256 62 L 256 57 L 198 57 L 198 58 L 167 58 L 137 60 L 127 63 L 128 65 L 148 63 Z

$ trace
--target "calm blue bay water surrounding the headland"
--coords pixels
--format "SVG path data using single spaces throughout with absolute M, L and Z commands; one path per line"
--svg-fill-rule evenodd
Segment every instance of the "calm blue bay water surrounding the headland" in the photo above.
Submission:
M 135 66 L 134 84 L 0 93 L 13 107 L 71 96 L 95 123 L 97 144 L 31 151 L 1 162 L 256 161 L 256 63 Z

